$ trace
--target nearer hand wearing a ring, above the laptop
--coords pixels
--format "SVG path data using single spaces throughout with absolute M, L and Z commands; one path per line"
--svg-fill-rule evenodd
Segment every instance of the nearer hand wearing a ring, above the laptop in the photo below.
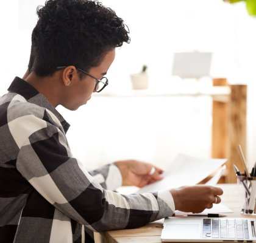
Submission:
M 205 208 L 212 208 L 221 202 L 223 191 L 218 187 L 196 185 L 193 187 L 179 187 L 170 190 L 175 209 L 183 212 L 201 213 Z

